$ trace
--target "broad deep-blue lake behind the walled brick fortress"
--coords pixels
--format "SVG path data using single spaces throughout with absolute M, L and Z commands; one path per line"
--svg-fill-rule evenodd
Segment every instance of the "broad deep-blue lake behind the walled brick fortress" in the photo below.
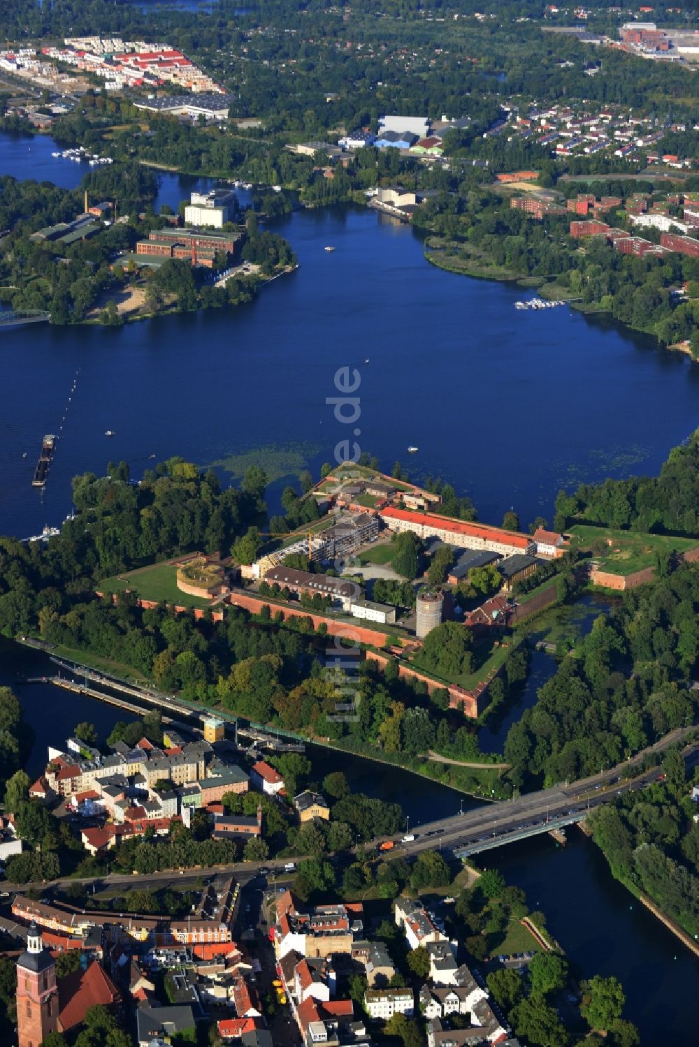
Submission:
M 74 184 L 79 165 L 51 149 L 49 138 L 4 136 L 0 170 Z M 163 176 L 159 203 L 176 204 L 191 184 Z M 274 228 L 301 267 L 249 306 L 0 334 L 15 394 L 0 418 L 0 533 L 60 524 L 70 478 L 104 472 L 109 459 L 137 472 L 150 454 L 206 466 L 264 448 L 275 504 L 293 469 L 318 469 L 349 435 L 326 404 L 344 364 L 362 374 L 362 449 L 385 469 L 401 460 L 417 480 L 451 481 L 496 524 L 511 506 L 523 524 L 539 513 L 550 522 L 564 485 L 656 472 L 697 425 L 699 367 L 685 356 L 567 307 L 519 312 L 521 289 L 430 266 L 410 226 L 334 207 Z M 42 500 L 35 461 L 43 435 L 59 431 Z

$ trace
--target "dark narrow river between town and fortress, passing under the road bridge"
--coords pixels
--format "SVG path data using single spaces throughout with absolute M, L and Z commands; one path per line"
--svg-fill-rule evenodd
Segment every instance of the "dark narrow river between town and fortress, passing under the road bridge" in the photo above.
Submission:
M 51 671 L 45 654 L 0 638 L 0 686 L 19 677 Z M 92 698 L 59 690 L 50 684 L 16 687 L 36 740 L 27 771 L 43 770 L 49 744 L 61 744 L 77 723 L 94 723 L 104 740 L 117 720 L 133 717 Z M 46 715 L 50 709 L 50 716 Z M 462 797 L 454 789 L 399 767 L 311 748 L 318 782 L 329 771 L 344 771 L 353 790 L 395 801 L 411 827 L 456 814 Z M 464 808 L 476 804 L 464 799 Z M 510 844 L 484 854 L 483 868 L 499 868 L 509 884 L 524 889 L 531 909 L 542 909 L 551 934 L 580 968 L 582 977 L 616 975 L 624 983 L 627 1017 L 641 1032 L 641 1043 L 696 1044 L 694 1019 L 699 963 L 677 939 L 618 884 L 602 852 L 582 832 L 568 829 L 559 847 L 549 837 Z M 477 860 L 478 861 L 478 860 Z

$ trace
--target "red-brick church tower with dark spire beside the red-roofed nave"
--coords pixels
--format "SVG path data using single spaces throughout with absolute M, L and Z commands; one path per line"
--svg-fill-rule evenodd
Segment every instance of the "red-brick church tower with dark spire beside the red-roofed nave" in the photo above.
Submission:
M 17 1031 L 19 1047 L 40 1047 L 58 1029 L 59 992 L 53 957 L 44 949 L 37 925 L 27 932 L 26 952 L 17 961 Z

